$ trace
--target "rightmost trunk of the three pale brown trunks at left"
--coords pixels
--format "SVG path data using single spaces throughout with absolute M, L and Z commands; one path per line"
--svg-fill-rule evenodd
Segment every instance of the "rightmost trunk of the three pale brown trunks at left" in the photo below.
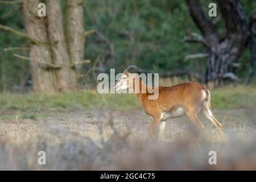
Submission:
M 83 0 L 67 0 L 67 46 L 73 64 L 84 58 L 84 9 Z M 79 69 L 79 67 L 76 67 Z

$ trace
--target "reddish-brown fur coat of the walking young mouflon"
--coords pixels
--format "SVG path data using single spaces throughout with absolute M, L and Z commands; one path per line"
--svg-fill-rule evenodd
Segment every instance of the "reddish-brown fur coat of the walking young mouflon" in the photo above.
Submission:
M 129 74 L 127 71 L 123 73 L 127 76 Z M 209 91 L 203 85 L 196 82 L 184 82 L 168 87 L 159 86 L 159 97 L 156 100 L 149 100 L 148 96 L 150 93 L 142 93 L 142 88 L 147 88 L 147 86 L 136 73 L 133 73 L 133 77 L 134 79 L 139 79 L 139 93 L 136 94 L 137 99 L 141 103 L 143 110 L 152 117 L 152 123 L 149 129 L 150 134 L 155 133 L 156 128 L 158 128 L 157 126 L 162 119 L 161 114 L 163 112 L 172 112 L 180 106 L 183 107 L 185 114 L 193 123 L 200 129 L 204 129 L 204 126 L 197 118 L 197 110 L 201 108 L 208 119 L 212 121 L 214 126 L 218 127 L 220 133 L 222 133 L 221 123 L 212 115 Z M 135 81 L 133 81 L 133 88 L 129 89 L 134 90 L 134 86 Z M 202 90 L 205 90 L 206 94 L 204 100 L 202 100 Z

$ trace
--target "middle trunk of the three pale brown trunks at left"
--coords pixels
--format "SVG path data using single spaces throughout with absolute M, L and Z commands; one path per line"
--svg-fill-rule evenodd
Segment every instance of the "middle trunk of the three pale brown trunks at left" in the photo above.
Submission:
M 59 0 L 47 0 L 47 23 L 48 36 L 51 43 L 51 53 L 53 63 L 60 66 L 56 70 L 57 89 L 72 90 L 76 86 L 75 70 L 71 68 L 71 61 L 68 56 L 67 44 L 65 42 L 63 30 L 63 18 Z

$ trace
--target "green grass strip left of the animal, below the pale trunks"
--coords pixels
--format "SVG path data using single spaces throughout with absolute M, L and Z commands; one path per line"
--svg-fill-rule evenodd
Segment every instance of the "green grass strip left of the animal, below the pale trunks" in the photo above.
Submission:
M 127 110 L 139 107 L 133 94 L 98 94 L 92 90 L 72 93 L 2 93 L 0 94 L 0 105 L 2 113 L 9 111 L 65 111 L 95 107 Z

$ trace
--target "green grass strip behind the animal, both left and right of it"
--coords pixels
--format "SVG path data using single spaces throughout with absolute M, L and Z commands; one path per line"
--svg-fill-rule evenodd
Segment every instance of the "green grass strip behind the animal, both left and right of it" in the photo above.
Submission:
M 256 105 L 254 86 L 225 86 L 212 89 L 214 109 L 236 109 Z M 21 113 L 23 118 L 36 119 L 37 113 L 82 109 L 138 109 L 141 106 L 133 94 L 98 94 L 93 90 L 72 93 L 0 94 L 1 118 Z

